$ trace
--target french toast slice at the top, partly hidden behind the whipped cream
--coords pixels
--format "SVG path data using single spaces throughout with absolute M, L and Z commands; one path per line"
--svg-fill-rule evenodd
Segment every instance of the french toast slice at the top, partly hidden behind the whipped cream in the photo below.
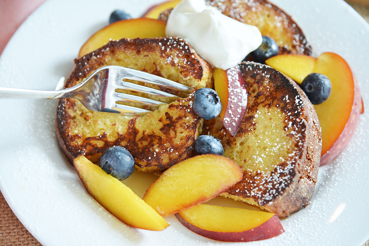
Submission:
M 221 13 L 235 20 L 259 28 L 263 36 L 273 38 L 279 46 L 279 54 L 311 55 L 311 46 L 301 28 L 290 15 L 267 0 L 205 0 Z M 159 16 L 168 20 L 170 10 Z

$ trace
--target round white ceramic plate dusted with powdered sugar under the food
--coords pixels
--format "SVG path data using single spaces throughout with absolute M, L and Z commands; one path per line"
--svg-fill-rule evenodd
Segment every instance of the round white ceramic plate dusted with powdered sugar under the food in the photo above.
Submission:
M 0 86 L 54 89 L 68 77 L 80 46 L 121 8 L 139 17 L 159 0 L 49 0 L 18 29 L 0 57 Z M 343 56 L 366 107 L 369 26 L 342 0 L 275 0 L 314 48 Z M 239 245 L 208 240 L 174 216 L 162 232 L 126 226 L 85 191 L 55 136 L 56 101 L 0 100 L 0 188 L 23 225 L 51 245 Z M 356 245 L 369 239 L 368 113 L 348 148 L 320 169 L 311 205 L 282 220 L 286 232 L 249 245 Z M 150 181 L 148 181 L 149 183 Z M 135 187 L 132 187 L 135 190 Z M 142 191 L 137 192 L 143 195 Z

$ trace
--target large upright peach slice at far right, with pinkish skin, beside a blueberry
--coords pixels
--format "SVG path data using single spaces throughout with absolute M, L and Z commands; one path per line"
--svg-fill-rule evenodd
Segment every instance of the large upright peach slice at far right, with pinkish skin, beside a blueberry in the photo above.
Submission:
M 322 104 L 314 105 L 322 127 L 322 166 L 331 162 L 348 145 L 359 122 L 363 104 L 356 76 L 341 56 L 334 53 L 322 54 L 318 57 L 313 72 L 325 74 L 331 82 L 334 81 L 330 98 Z M 337 115 L 338 113 L 341 115 Z M 335 127 L 337 130 L 334 130 Z

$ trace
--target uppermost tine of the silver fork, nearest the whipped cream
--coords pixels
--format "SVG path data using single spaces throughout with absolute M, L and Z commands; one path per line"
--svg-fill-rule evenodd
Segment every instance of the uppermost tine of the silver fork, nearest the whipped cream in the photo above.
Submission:
M 155 84 L 155 85 L 161 85 L 166 88 L 175 89 L 177 91 L 182 91 L 182 92 L 187 92 L 187 93 L 191 93 L 194 90 L 191 87 L 168 80 L 166 78 L 163 78 L 163 77 L 160 77 L 154 74 L 145 73 L 143 71 L 135 70 L 135 69 L 128 68 L 128 67 L 119 67 L 119 66 L 117 67 L 118 67 L 117 74 L 120 75 L 122 78 L 138 80 L 141 82 L 147 82 L 147 83 Z

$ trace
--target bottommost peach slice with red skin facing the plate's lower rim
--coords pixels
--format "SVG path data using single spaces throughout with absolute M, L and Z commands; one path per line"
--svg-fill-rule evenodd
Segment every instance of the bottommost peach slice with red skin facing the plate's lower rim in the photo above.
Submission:
M 284 232 L 278 216 L 265 211 L 200 204 L 176 217 L 191 231 L 225 242 L 264 240 Z

